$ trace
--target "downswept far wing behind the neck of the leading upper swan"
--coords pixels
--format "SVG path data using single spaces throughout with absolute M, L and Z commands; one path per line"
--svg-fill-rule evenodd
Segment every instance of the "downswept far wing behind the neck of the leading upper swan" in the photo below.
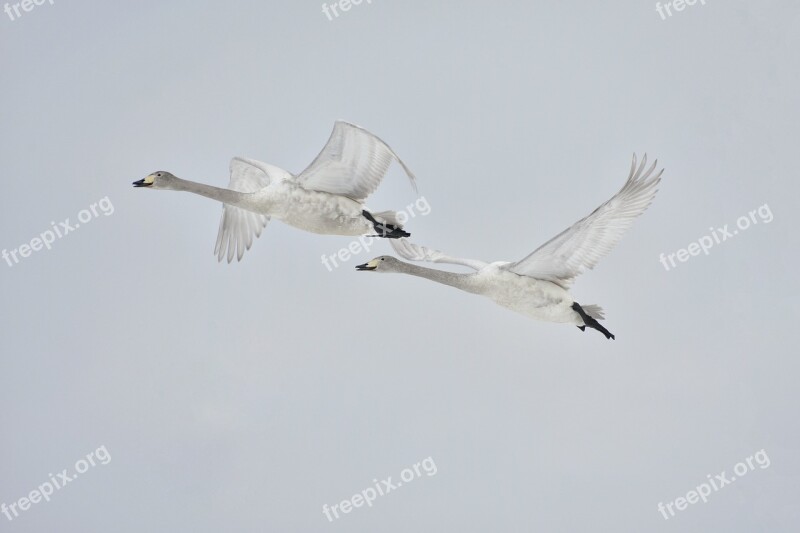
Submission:
M 228 188 L 239 192 L 256 192 L 273 181 L 292 177 L 283 169 L 243 157 L 231 159 L 230 170 L 231 179 Z M 267 222 L 269 217 L 266 215 L 223 204 L 217 244 L 214 246 L 217 260 L 222 261 L 227 255 L 230 263 L 235 255 L 237 260 L 241 261 L 244 252 L 253 245 L 253 236 L 260 237 Z

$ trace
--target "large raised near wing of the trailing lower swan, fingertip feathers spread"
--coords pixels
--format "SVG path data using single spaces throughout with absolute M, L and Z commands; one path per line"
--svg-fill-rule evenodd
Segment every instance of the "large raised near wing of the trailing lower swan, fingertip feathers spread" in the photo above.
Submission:
M 664 170 L 654 175 L 658 160 L 645 171 L 646 163 L 647 154 L 637 168 L 634 154 L 628 181 L 617 194 L 524 259 L 505 268 L 568 288 L 575 277 L 594 268 L 611 251 L 633 220 L 653 201 Z

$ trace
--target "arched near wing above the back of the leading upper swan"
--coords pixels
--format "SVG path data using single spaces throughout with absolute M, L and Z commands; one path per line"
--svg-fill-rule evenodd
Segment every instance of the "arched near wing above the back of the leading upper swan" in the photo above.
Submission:
M 393 160 L 416 192 L 414 174 L 388 144 L 364 128 L 337 120 L 328 143 L 297 181 L 305 189 L 363 200 L 375 192 Z

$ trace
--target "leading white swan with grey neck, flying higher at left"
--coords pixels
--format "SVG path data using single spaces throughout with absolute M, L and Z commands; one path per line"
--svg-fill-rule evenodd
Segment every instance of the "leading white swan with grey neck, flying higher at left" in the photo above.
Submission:
M 364 199 L 378 188 L 392 161 L 408 175 L 416 192 L 416 179 L 397 154 L 369 131 L 337 121 L 325 147 L 297 176 L 243 157 L 230 165 L 227 189 L 182 180 L 169 172 L 153 172 L 133 182 L 134 187 L 188 191 L 222 202 L 214 254 L 219 261 L 234 255 L 239 261 L 258 238 L 271 217 L 313 233 L 408 237 L 394 211 L 373 213 Z

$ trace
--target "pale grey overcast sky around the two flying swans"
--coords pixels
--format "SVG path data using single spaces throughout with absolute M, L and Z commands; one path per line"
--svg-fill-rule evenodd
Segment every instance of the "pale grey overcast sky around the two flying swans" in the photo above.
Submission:
M 670 5 L 0 13 L 0 531 L 797 531 L 800 6 Z M 329 271 L 352 238 L 279 221 L 220 264 L 219 204 L 131 187 L 225 186 L 236 155 L 297 173 L 336 119 L 416 173 L 415 242 L 487 261 L 658 157 L 652 207 L 573 287 L 616 341 L 356 272 L 385 242 Z M 393 167 L 368 205 L 415 199 Z

